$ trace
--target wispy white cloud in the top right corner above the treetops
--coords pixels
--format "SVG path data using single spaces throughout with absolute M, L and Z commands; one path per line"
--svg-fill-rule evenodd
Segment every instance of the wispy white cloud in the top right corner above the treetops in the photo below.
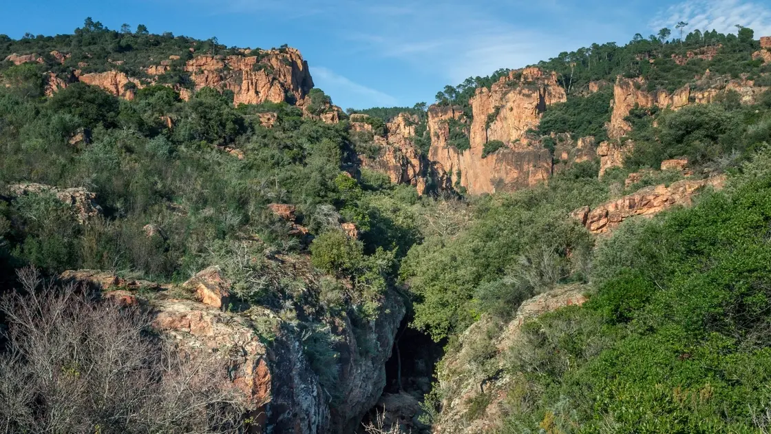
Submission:
M 678 22 L 688 22 L 686 32 L 695 29 L 721 33 L 736 32 L 736 25 L 755 31 L 758 36 L 771 35 L 771 4 L 742 0 L 687 0 L 672 5 L 656 15 L 651 29 L 675 28 Z M 673 35 L 675 32 L 673 31 Z

